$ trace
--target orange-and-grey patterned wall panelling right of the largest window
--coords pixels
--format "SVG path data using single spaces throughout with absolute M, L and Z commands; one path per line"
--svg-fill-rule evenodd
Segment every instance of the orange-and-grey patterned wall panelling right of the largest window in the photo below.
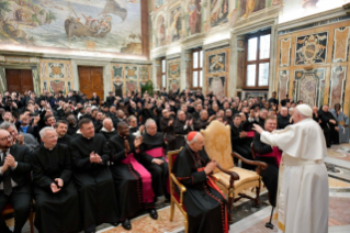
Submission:
M 290 40 L 293 62 L 286 66 L 284 55 Z M 276 57 L 280 66 L 275 70 L 279 75 L 274 90 L 286 87 L 291 98 L 311 106 L 334 108 L 339 102 L 343 112 L 350 114 L 349 40 L 347 16 L 280 31 L 276 52 L 281 56 Z M 289 76 L 287 80 L 282 74 Z

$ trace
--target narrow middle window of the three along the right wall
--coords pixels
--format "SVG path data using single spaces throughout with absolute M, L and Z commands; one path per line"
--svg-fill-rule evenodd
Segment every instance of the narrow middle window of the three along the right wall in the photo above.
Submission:
M 191 89 L 203 88 L 203 51 L 192 51 L 192 82 Z

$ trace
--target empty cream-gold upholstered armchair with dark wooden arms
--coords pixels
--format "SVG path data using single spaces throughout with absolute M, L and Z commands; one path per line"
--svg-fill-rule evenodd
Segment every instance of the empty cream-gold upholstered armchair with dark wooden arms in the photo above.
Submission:
M 214 170 L 214 176 L 217 177 L 217 186 L 229 198 L 234 198 L 234 202 L 241 198 L 253 200 L 256 206 L 260 206 L 260 187 L 261 177 L 258 173 L 236 167 L 233 157 L 241 159 L 242 163 L 255 165 L 258 167 L 267 167 L 266 163 L 249 160 L 232 151 L 230 143 L 230 126 L 224 125 L 218 121 L 213 121 L 206 130 L 201 130 L 205 140 L 205 151 L 211 159 L 215 159 L 228 171 L 238 174 L 239 180 L 234 181 L 230 186 L 230 178 L 219 169 Z M 256 198 L 242 193 L 244 190 L 256 188 Z

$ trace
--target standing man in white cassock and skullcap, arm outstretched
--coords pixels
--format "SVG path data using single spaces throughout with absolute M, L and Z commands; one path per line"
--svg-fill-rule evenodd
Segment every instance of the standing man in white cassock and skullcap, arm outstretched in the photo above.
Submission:
M 328 232 L 328 175 L 324 133 L 306 104 L 296 107 L 294 124 L 269 133 L 255 124 L 261 142 L 283 151 L 279 174 L 279 233 Z

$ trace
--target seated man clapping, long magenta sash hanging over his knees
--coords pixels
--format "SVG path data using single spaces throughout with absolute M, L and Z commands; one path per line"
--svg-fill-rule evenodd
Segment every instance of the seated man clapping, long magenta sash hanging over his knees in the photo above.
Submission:
M 153 219 L 157 219 L 158 214 L 155 209 L 151 175 L 136 159 L 139 156 L 143 138 L 132 135 L 125 122 L 117 124 L 117 133 L 109 141 L 110 169 L 114 179 L 122 225 L 125 230 L 131 230 L 129 218 L 139 210 L 147 209 Z

